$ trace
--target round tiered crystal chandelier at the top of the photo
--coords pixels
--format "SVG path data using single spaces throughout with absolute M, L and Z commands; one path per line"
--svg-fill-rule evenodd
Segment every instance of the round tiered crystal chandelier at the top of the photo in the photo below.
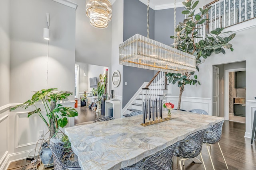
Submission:
M 86 16 L 96 28 L 108 27 L 112 18 L 112 5 L 109 0 L 86 0 Z

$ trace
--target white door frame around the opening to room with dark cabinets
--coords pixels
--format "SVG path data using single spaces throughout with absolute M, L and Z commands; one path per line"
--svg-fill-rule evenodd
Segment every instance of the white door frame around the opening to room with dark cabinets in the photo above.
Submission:
M 229 69 L 225 70 L 225 110 L 224 110 L 224 119 L 229 120 L 229 79 L 228 79 L 228 74 L 229 72 L 236 72 L 236 71 L 246 71 L 246 68 L 234 68 L 234 69 Z

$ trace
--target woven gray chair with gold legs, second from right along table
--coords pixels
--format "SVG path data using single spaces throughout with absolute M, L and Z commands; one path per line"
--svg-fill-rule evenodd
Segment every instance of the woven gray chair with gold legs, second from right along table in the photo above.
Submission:
M 182 141 L 178 141 L 176 143 L 174 156 L 177 156 L 177 169 L 178 169 L 178 157 L 180 157 L 179 164 L 180 164 L 180 170 L 182 170 L 182 165 L 181 165 L 182 160 L 184 161 L 189 158 L 195 158 L 200 154 L 202 164 L 204 166 L 204 170 L 206 170 L 204 165 L 204 160 L 201 154 L 205 131 L 206 129 L 192 133 Z M 184 162 L 183 162 L 183 165 L 184 165 Z

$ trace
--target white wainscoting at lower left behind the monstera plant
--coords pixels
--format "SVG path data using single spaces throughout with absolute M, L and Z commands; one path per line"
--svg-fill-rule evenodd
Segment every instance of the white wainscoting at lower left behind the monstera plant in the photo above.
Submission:
M 75 101 L 62 101 L 58 104 L 64 107 L 74 107 Z M 33 111 L 34 107 L 28 107 L 26 110 L 18 108 L 15 111 L 10 111 L 10 108 L 16 105 L 18 104 L 7 104 L 0 107 L 0 136 L 2 140 L 0 145 L 0 170 L 6 170 L 10 162 L 34 155 L 39 139 L 39 131 L 44 131 L 44 134 L 48 131 L 37 114 L 31 115 L 29 119 L 27 118 L 28 112 Z M 43 104 L 38 103 L 37 107 L 41 108 L 41 113 L 46 116 Z M 70 126 L 74 126 L 74 117 L 68 118 L 66 127 Z M 62 128 L 60 130 L 64 132 Z M 37 152 L 36 150 L 36 154 Z

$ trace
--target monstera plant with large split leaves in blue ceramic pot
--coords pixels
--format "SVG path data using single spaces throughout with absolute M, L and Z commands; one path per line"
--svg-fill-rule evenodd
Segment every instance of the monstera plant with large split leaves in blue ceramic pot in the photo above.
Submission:
M 67 117 L 74 117 L 78 115 L 76 109 L 72 107 L 64 107 L 58 104 L 58 101 L 66 99 L 68 96 L 72 95 L 72 92 L 68 91 L 58 91 L 57 88 L 43 89 L 35 92 L 31 99 L 11 108 L 11 111 L 17 109 L 18 107 L 35 107 L 34 111 L 28 113 L 28 117 L 37 113 L 45 125 L 50 131 L 50 137 L 46 140 L 41 147 L 40 158 L 44 166 L 53 166 L 52 152 L 49 148 L 49 141 L 51 137 L 55 137 L 60 129 L 60 127 L 65 127 L 68 124 Z M 40 102 L 42 104 L 40 105 Z M 44 109 L 41 109 L 43 107 Z M 41 113 L 41 111 L 46 112 L 46 117 Z

